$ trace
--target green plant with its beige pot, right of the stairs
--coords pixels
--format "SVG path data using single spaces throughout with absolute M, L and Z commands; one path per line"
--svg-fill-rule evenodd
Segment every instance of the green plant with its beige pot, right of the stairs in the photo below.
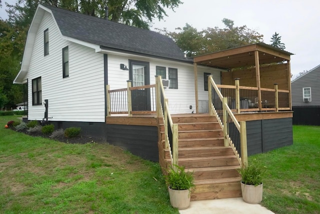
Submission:
M 262 176 L 266 167 L 253 159 L 251 164 L 241 167 L 238 171 L 241 175 L 242 198 L 247 203 L 260 203 L 262 200 Z

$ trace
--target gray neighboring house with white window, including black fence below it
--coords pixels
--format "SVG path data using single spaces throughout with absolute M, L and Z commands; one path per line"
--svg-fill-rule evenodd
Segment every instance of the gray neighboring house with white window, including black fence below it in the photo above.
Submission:
M 291 82 L 293 124 L 320 125 L 320 65 Z

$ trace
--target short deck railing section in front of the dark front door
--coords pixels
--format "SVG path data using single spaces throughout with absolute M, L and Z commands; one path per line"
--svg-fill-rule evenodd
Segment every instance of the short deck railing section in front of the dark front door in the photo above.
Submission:
M 127 81 L 126 88 L 107 91 L 107 116 L 111 114 L 155 114 L 155 84 L 131 86 L 131 81 Z M 132 101 L 133 97 L 133 101 Z M 147 101 L 148 100 L 148 101 Z

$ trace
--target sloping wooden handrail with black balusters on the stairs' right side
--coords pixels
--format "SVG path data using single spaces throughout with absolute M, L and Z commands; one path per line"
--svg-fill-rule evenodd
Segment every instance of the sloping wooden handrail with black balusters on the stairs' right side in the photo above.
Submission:
M 247 165 L 246 125 L 238 122 L 228 106 L 228 98 L 223 97 L 218 86 L 208 76 L 209 114 L 216 115 L 223 130 L 224 146 L 231 146 L 242 167 Z M 236 92 L 235 92 L 235 96 Z M 238 98 L 237 98 L 238 99 Z

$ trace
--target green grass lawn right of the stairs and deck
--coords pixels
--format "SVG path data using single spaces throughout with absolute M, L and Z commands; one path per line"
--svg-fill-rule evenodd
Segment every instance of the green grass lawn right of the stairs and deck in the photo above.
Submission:
M 293 126 L 293 145 L 249 157 L 267 166 L 262 205 L 275 213 L 320 213 L 320 126 Z

